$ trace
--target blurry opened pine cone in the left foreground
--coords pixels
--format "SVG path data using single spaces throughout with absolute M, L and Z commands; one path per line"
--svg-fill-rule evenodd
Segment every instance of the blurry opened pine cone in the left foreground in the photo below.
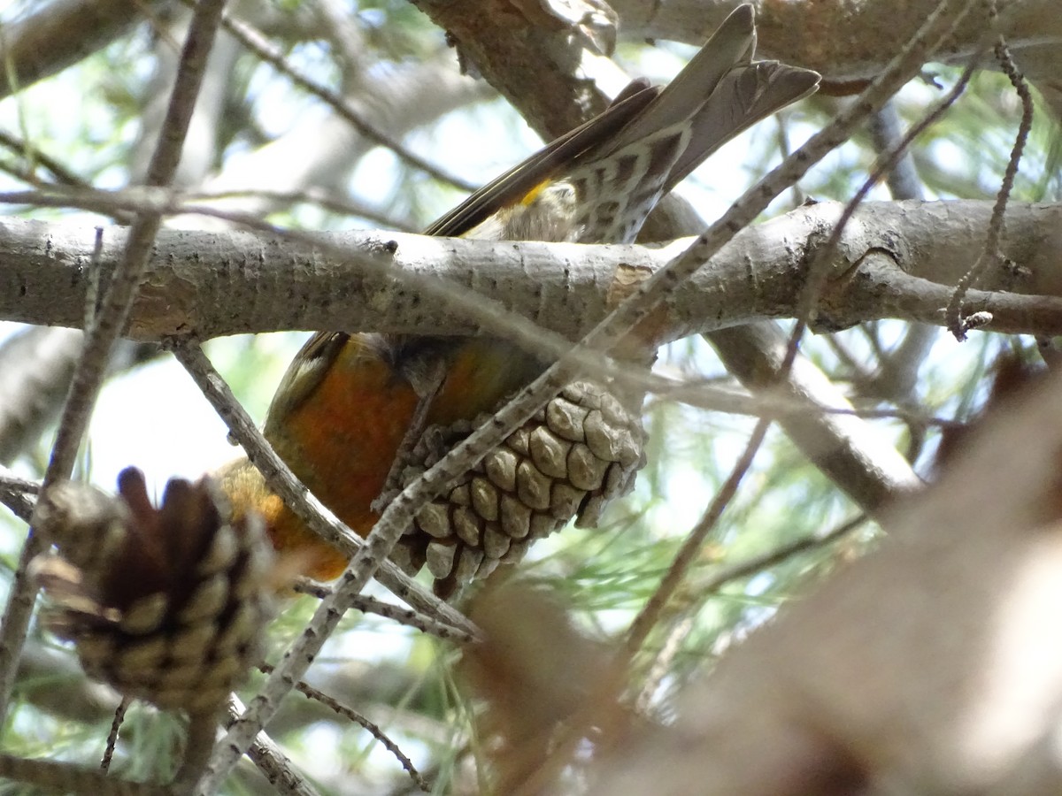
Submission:
M 139 470 L 118 484 L 119 497 L 67 482 L 40 499 L 35 525 L 58 548 L 32 567 L 54 603 L 46 622 L 124 696 L 212 712 L 261 655 L 274 591 L 263 523 L 227 522 L 208 479 L 170 481 L 157 509 Z

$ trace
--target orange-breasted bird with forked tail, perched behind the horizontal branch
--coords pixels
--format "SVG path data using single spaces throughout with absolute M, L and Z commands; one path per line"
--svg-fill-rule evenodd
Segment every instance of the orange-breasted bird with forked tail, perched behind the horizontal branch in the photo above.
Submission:
M 600 116 L 477 191 L 426 235 L 490 240 L 628 243 L 667 191 L 730 138 L 811 93 L 819 75 L 754 62 L 751 5 L 722 23 L 663 90 L 635 81 Z M 441 368 L 441 369 L 440 369 Z M 365 535 L 422 398 L 427 422 L 494 411 L 543 364 L 490 338 L 318 332 L 297 353 L 264 434 L 313 494 Z M 438 390 L 426 374 L 441 374 Z M 337 576 L 345 557 L 312 534 L 241 460 L 219 473 L 237 514 L 264 515 L 273 543 Z

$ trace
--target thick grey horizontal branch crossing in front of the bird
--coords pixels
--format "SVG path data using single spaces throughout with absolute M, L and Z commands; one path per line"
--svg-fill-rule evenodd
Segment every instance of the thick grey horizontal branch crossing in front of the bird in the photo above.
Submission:
M 839 205 L 825 203 L 744 230 L 669 296 L 665 336 L 790 317 L 805 264 L 839 212 Z M 950 285 L 980 253 L 990 212 L 984 202 L 866 205 L 832 263 L 820 327 L 884 317 L 942 323 Z M 104 280 L 125 237 L 121 227 L 104 232 Z M 494 299 L 576 338 L 605 314 L 617 270 L 629 282 L 688 243 L 576 246 L 363 231 L 312 240 L 318 243 L 306 236 L 162 230 L 129 336 L 468 331 L 467 314 L 441 300 L 442 290 L 466 302 Z M 87 226 L 0 221 L 0 317 L 79 326 L 92 241 Z M 966 311 L 993 313 L 989 329 L 1062 333 L 1062 208 L 1012 206 L 1004 252 L 1010 265 L 991 270 Z M 1005 289 L 1014 292 L 983 292 Z

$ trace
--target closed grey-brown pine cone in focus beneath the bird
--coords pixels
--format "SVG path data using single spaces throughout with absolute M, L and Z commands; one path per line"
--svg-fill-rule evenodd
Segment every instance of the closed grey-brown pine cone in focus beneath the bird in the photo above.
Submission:
M 486 420 L 429 428 L 402 472 L 410 484 Z M 536 539 L 575 517 L 598 523 L 645 465 L 640 418 L 607 388 L 573 382 L 489 453 L 448 495 L 417 514 L 391 557 L 414 573 L 427 565 L 449 596 L 499 564 L 516 564 Z

